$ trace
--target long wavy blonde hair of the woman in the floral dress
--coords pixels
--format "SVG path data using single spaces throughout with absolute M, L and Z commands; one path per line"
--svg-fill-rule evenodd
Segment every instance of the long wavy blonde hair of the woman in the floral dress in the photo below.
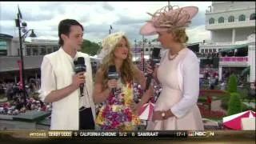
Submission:
M 122 62 L 122 66 L 120 68 L 120 72 L 121 72 L 121 81 L 122 83 L 126 83 L 126 82 L 130 82 L 134 79 L 134 72 L 136 70 L 136 66 L 134 65 L 132 58 L 133 58 L 133 54 L 130 48 L 130 43 L 128 42 L 128 38 L 126 38 L 126 36 L 122 35 L 122 38 L 126 39 L 127 42 L 127 48 L 128 48 L 128 55 L 127 58 Z M 120 41 L 119 41 L 120 42 Z M 114 49 L 110 51 L 110 54 L 106 55 L 106 57 L 104 57 L 102 59 L 102 65 L 101 65 L 101 69 L 102 69 L 102 86 L 103 89 L 106 89 L 107 87 L 107 73 L 109 70 L 109 66 L 110 65 L 114 65 L 114 50 L 117 48 L 118 43 L 116 43 L 116 45 L 114 46 Z

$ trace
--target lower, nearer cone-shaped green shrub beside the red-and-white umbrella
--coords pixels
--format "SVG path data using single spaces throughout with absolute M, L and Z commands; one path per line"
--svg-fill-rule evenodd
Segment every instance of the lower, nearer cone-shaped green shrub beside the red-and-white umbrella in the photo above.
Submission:
M 242 112 L 242 102 L 240 99 L 240 94 L 231 93 L 230 102 L 227 110 L 227 115 L 238 114 Z

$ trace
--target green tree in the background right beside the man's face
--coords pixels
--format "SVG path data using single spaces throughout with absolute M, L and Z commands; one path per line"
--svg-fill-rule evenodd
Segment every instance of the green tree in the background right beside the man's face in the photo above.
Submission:
M 81 51 L 83 53 L 89 54 L 89 55 L 95 55 L 100 51 L 102 48 L 99 46 L 96 42 L 90 42 L 87 39 L 84 39 L 82 42 L 82 48 Z

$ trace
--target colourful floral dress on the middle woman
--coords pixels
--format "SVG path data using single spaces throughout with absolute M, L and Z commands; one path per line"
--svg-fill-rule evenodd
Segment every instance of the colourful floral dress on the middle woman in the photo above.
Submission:
M 124 86 L 123 92 L 119 91 L 118 97 L 110 94 L 106 105 L 98 113 L 96 123 L 102 130 L 133 130 L 140 124 L 140 119 L 130 109 L 133 101 L 133 88 L 130 83 Z

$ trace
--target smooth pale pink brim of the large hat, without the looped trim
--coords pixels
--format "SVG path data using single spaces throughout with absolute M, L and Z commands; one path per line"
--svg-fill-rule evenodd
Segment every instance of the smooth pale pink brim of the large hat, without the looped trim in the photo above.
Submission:
M 180 9 L 181 8 L 177 10 L 180 10 Z M 190 14 L 189 20 L 194 18 L 194 15 L 198 13 L 198 7 L 196 6 L 186 6 L 186 7 L 182 7 L 182 9 L 186 10 L 187 13 Z M 174 10 L 170 10 L 169 13 L 171 13 L 172 11 Z M 146 22 L 146 24 L 144 24 L 140 30 L 140 34 L 142 35 L 154 35 L 154 34 L 158 34 L 157 32 L 158 30 L 154 27 L 152 22 Z

